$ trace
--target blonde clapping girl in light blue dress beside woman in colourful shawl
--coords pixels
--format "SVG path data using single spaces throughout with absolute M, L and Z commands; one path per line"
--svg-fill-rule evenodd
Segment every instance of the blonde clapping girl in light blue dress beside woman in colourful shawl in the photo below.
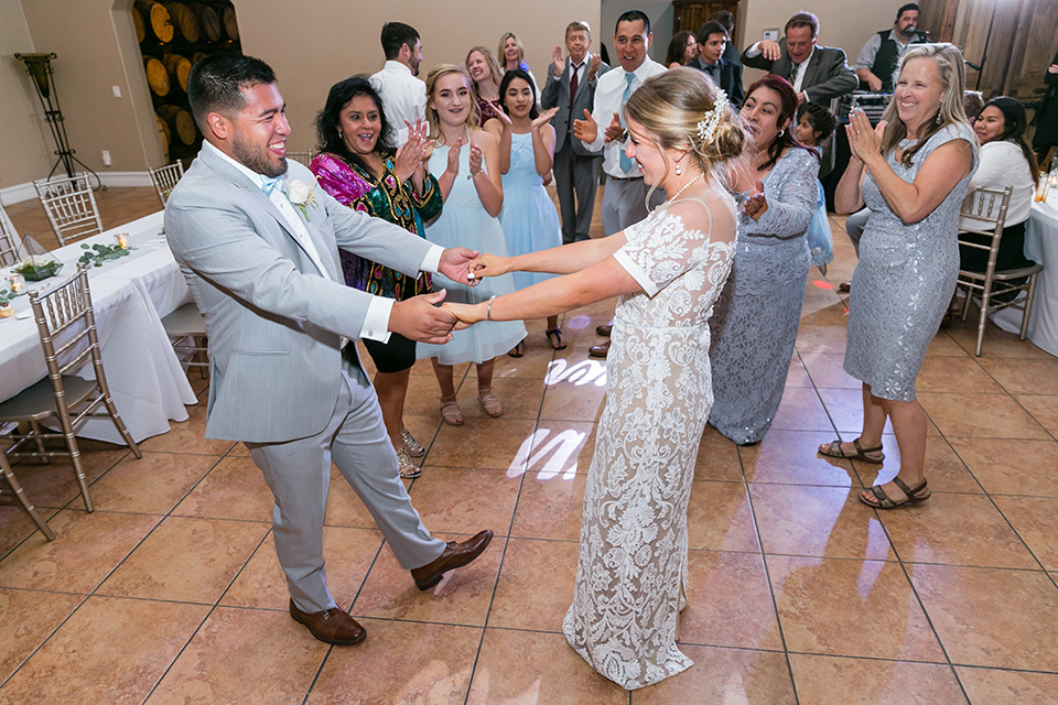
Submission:
M 428 118 L 435 139 L 429 156 L 430 173 L 438 180 L 444 206 L 427 224 L 427 239 L 440 247 L 465 247 L 481 252 L 507 253 L 504 230 L 497 220 L 504 204 L 499 175 L 499 141 L 477 128 L 477 104 L 466 72 L 451 64 L 434 66 L 427 76 Z M 440 288 L 434 283 L 434 288 Z M 444 282 L 445 301 L 474 304 L 515 290 L 511 278 L 498 276 L 479 286 Z M 486 323 L 455 330 L 445 345 L 418 346 L 419 359 L 431 358 L 441 387 L 441 417 L 451 425 L 463 424 L 455 400 L 453 366 L 475 362 L 477 398 L 489 416 L 504 413 L 492 393 L 493 367 L 503 355 L 526 337 L 520 322 Z

